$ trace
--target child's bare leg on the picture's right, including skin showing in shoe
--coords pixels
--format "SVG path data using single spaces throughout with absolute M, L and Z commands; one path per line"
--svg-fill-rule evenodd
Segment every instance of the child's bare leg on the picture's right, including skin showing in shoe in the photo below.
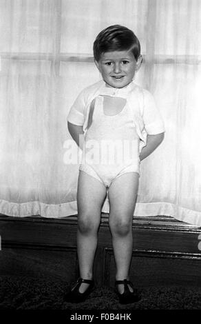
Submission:
M 129 279 L 133 248 L 132 219 L 138 192 L 138 174 L 125 173 L 109 187 L 109 227 L 112 232 L 116 280 Z M 129 287 L 131 290 L 131 287 Z M 123 285 L 118 285 L 120 293 Z M 132 291 L 132 290 L 131 290 Z

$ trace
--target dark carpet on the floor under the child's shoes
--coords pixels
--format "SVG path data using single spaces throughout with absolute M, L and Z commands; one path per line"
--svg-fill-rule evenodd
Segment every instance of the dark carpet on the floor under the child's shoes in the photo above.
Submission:
M 96 287 L 83 303 L 65 303 L 68 289 L 58 279 L 1 276 L 0 310 L 201 310 L 201 287 L 143 287 L 142 299 L 129 305 L 120 305 L 109 287 Z

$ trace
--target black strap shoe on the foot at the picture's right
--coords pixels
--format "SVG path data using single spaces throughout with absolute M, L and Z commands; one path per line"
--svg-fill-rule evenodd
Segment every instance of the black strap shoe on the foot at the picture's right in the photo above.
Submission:
M 131 283 L 131 281 L 125 280 L 116 280 L 115 285 L 124 285 L 124 292 L 123 294 L 120 294 L 118 292 L 118 289 L 116 287 L 116 293 L 118 294 L 118 299 L 120 304 L 130 304 L 130 303 L 136 303 L 140 301 L 141 297 L 140 295 L 134 290 L 134 286 Z M 130 292 L 128 285 L 131 286 L 133 289 L 133 292 Z

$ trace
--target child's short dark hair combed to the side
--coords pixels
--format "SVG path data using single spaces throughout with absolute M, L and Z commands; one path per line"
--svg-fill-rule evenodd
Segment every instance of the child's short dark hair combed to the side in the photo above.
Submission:
M 113 25 L 99 32 L 94 41 L 94 59 L 99 61 L 105 52 L 131 50 L 136 61 L 140 56 L 140 42 L 134 32 L 129 28 Z

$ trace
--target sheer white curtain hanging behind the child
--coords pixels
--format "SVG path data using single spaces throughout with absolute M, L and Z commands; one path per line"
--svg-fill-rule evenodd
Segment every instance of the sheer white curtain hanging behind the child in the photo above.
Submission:
M 154 94 L 166 128 L 141 163 L 135 215 L 201 225 L 201 1 L 0 0 L 0 15 L 1 214 L 76 214 L 66 117 L 77 94 L 100 79 L 96 34 L 118 23 L 140 39 L 136 83 Z

